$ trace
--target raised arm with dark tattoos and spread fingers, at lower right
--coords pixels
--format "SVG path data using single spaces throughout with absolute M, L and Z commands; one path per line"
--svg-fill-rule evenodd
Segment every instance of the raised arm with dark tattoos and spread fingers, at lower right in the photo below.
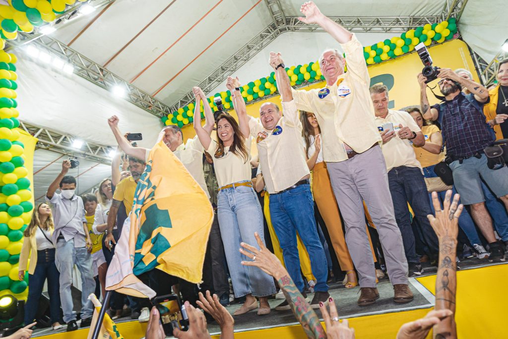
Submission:
M 432 203 L 436 216 L 428 215 L 430 224 L 436 232 L 439 240 L 439 265 L 436 277 L 436 305 L 435 310 L 451 310 L 455 315 L 455 297 L 457 290 L 457 234 L 459 231 L 458 220 L 462 212 L 459 205 L 460 196 L 456 194 L 453 202 L 450 201 L 452 191 L 449 190 L 444 198 L 443 208 L 437 198 L 437 193 L 432 193 Z M 457 328 L 454 316 L 442 320 L 434 326 L 434 338 L 456 338 Z

